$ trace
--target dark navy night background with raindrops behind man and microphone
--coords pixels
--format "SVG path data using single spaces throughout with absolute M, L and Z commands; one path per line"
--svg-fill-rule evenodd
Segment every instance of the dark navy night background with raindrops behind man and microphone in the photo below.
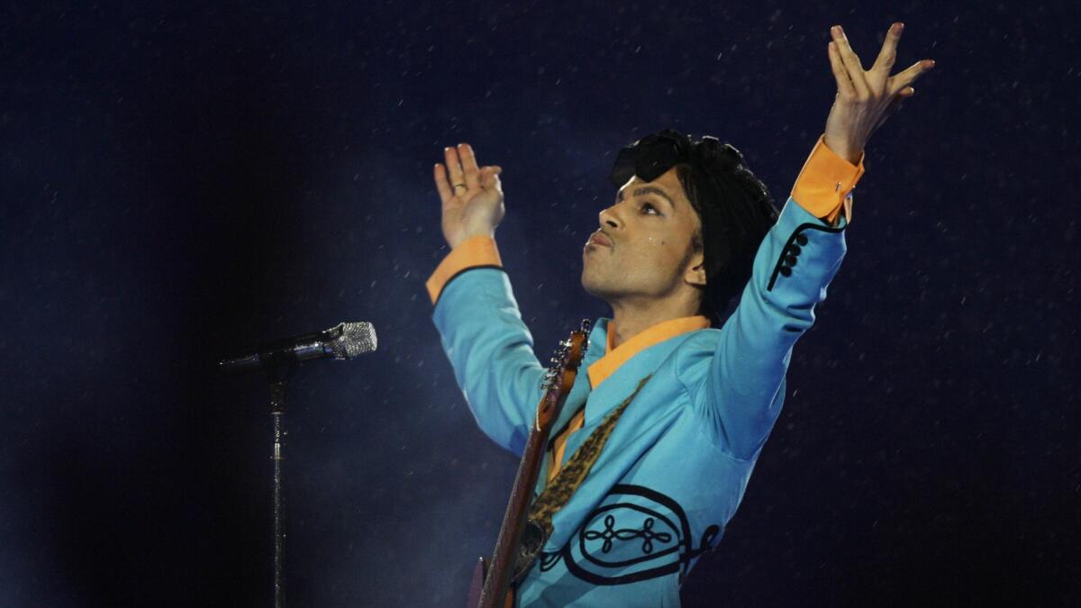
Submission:
M 290 604 L 462 605 L 516 462 L 430 321 L 442 146 L 504 168 L 547 357 L 606 314 L 578 273 L 620 145 L 718 135 L 780 206 L 832 102 L 829 26 L 869 66 L 893 21 L 897 68 L 937 66 L 869 145 L 684 602 L 1081 602 L 1076 14 L 808 4 L 5 3 L 0 605 L 269 606 L 268 393 L 213 365 L 342 320 L 379 348 L 293 383 Z

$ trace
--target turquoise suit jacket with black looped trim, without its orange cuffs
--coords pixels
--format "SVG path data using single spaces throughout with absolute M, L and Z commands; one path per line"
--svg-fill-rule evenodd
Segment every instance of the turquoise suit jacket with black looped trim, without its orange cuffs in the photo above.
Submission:
M 596 387 L 578 374 L 555 426 L 558 432 L 585 407 L 585 424 L 568 438 L 565 459 L 642 378 L 652 379 L 552 517 L 552 533 L 518 586 L 517 606 L 680 605 L 680 585 L 720 540 L 777 420 L 792 345 L 826 299 L 844 256 L 846 225 L 843 214 L 830 226 L 789 198 L 721 329 L 648 347 Z M 433 316 L 480 428 L 520 454 L 545 368 L 507 275 L 498 267 L 466 268 L 442 288 Z M 583 369 L 605 354 L 609 322 L 595 323 Z

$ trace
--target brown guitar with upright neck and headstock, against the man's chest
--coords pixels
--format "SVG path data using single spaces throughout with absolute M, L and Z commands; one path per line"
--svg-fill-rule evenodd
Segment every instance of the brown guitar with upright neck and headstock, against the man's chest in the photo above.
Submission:
M 526 520 L 530 502 L 540 474 L 540 463 L 544 462 L 544 450 L 548 445 L 551 427 L 574 386 L 588 339 L 589 321 L 584 320 L 579 329 L 572 331 L 570 338 L 560 343 L 561 348 L 551 358 L 552 367 L 545 375 L 545 394 L 537 405 L 530 438 L 518 465 L 518 475 L 503 516 L 492 561 L 485 563 L 483 557 L 478 561 L 469 587 L 467 608 L 512 608 L 515 593 L 511 580 L 517 583 L 525 576 L 544 546 L 546 531 Z

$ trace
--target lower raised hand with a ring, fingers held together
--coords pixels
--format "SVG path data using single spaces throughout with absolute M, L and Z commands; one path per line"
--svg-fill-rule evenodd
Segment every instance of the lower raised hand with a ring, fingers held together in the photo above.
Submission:
M 494 237 L 503 220 L 503 169 L 477 167 L 477 156 L 469 144 L 443 149 L 446 164 L 435 167 L 436 189 L 443 201 L 443 238 L 454 249 L 469 237 Z

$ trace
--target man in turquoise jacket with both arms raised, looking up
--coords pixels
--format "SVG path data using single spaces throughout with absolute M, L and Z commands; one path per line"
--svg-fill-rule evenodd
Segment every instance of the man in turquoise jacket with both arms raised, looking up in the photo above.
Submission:
M 613 314 L 595 325 L 586 373 L 553 427 L 531 512 L 548 537 L 518 606 L 679 605 L 739 504 L 792 345 L 844 255 L 864 146 L 934 65 L 890 76 L 902 28 L 866 71 L 831 29 L 837 98 L 779 216 L 717 140 L 663 131 L 620 153 L 622 187 L 582 272 Z M 501 169 L 478 167 L 467 144 L 444 151 L 435 180 L 452 251 L 427 283 L 435 322 L 481 429 L 520 453 L 545 370 L 495 246 Z

